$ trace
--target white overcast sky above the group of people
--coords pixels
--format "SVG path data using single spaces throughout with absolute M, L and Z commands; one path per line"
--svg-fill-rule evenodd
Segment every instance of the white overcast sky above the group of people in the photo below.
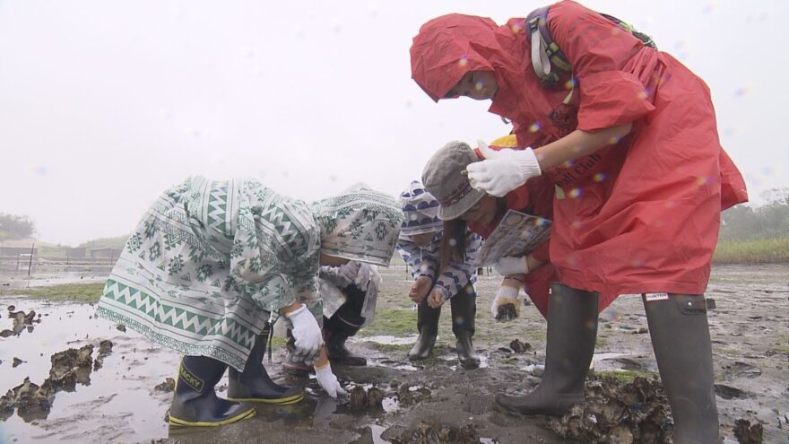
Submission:
M 0 0 L 0 213 L 76 245 L 134 228 L 189 175 L 313 200 L 397 194 L 450 140 L 509 127 L 489 101 L 435 104 L 411 80 L 421 23 L 503 23 L 542 2 Z M 789 2 L 605 1 L 709 84 L 750 196 L 789 187 Z M 783 129 L 782 129 L 783 128 Z

